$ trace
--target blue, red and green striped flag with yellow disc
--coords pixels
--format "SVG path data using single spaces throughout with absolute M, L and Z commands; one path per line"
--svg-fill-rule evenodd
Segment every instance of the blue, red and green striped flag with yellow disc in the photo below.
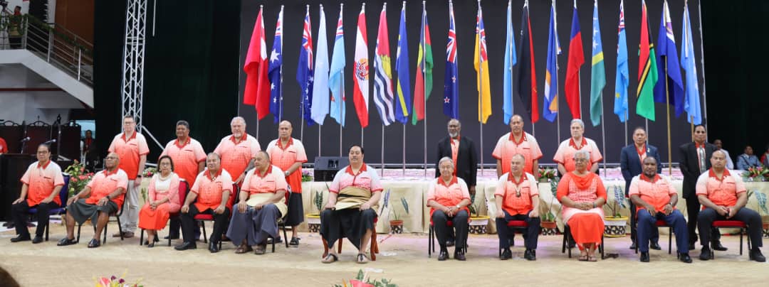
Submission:
M 424 2 L 422 2 L 422 26 L 419 31 L 417 78 L 414 80 L 414 113 L 411 113 L 411 124 L 417 124 L 419 120 L 424 120 L 424 102 L 430 98 L 432 91 L 432 68 L 432 44 L 428 12 L 424 9 Z

